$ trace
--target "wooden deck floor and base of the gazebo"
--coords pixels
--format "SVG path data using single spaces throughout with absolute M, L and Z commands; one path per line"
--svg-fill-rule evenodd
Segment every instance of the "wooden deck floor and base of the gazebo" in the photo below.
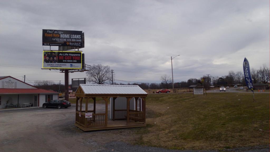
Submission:
M 134 127 L 146 127 L 146 124 L 143 124 L 143 122 L 130 122 L 129 125 L 127 125 L 126 120 L 108 120 L 107 127 L 90 127 L 90 128 L 84 128 L 83 126 L 75 123 L 76 127 L 82 129 L 83 131 L 92 131 L 92 130 L 105 130 L 105 129 L 120 129 L 120 128 L 134 128 Z

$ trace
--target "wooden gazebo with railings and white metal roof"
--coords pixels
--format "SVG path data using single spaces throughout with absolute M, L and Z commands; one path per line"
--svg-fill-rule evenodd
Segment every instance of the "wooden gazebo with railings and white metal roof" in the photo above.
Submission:
M 76 121 L 75 126 L 83 131 L 104 130 L 116 128 L 132 128 L 146 126 L 146 96 L 138 85 L 97 85 L 80 84 L 75 92 L 76 96 Z M 102 98 L 105 101 L 105 113 L 96 111 L 96 98 Z M 126 108 L 115 110 L 116 98 L 125 97 L 127 100 Z M 113 118 L 108 120 L 108 103 L 113 101 Z M 82 103 L 85 99 L 85 109 L 82 109 Z M 132 100 L 131 100 L 132 99 Z M 141 99 L 141 104 L 139 102 Z M 89 110 L 89 101 L 93 100 L 93 109 Z M 130 109 L 130 102 L 134 101 L 140 104 L 140 108 Z M 121 119 L 119 119 L 121 114 Z M 117 118 L 118 119 L 117 119 Z

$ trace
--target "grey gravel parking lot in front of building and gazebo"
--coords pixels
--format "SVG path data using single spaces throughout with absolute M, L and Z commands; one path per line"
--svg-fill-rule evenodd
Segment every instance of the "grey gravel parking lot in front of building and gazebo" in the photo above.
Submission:
M 97 104 L 97 111 L 104 109 L 103 106 Z M 129 144 L 137 138 L 134 134 L 136 128 L 83 132 L 74 123 L 75 105 L 67 109 L 1 110 L 0 151 L 178 151 Z M 264 152 L 269 149 L 251 151 Z

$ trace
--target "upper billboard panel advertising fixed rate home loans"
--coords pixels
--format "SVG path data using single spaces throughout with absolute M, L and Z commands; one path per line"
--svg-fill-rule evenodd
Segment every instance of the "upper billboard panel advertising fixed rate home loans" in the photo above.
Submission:
M 42 29 L 42 45 L 83 47 L 82 31 Z

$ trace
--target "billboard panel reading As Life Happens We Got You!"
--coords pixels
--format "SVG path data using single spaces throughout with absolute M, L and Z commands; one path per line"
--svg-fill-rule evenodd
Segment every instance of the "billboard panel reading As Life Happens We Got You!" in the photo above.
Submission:
M 43 68 L 81 69 L 82 52 L 43 51 Z

